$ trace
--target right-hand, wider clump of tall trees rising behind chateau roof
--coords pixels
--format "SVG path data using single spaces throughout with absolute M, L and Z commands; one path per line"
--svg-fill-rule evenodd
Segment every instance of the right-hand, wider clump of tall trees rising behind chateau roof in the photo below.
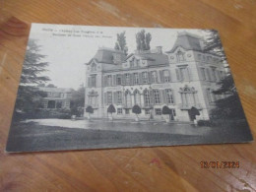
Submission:
M 145 30 L 136 33 L 137 50 L 150 50 L 150 42 L 152 35 L 150 32 L 146 33 Z

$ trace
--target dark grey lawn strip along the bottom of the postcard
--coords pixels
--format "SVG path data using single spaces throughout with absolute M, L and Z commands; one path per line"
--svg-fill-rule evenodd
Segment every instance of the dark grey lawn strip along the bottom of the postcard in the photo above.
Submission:
M 251 138 L 251 135 L 245 134 L 243 129 L 244 127 L 223 128 L 223 130 L 216 128 L 211 129 L 206 135 L 184 135 L 63 128 L 38 125 L 34 122 L 13 123 L 7 152 L 235 143 Z

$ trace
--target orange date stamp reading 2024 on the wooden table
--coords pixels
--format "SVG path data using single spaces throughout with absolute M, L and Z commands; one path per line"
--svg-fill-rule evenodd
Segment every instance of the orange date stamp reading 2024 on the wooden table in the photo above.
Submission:
M 200 162 L 201 168 L 239 168 L 239 161 L 207 161 Z

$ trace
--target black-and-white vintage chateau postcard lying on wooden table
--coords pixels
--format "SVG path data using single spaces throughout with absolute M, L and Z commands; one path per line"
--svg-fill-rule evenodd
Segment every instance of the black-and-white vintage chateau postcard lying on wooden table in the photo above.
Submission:
M 32 24 L 7 152 L 252 140 L 217 31 Z

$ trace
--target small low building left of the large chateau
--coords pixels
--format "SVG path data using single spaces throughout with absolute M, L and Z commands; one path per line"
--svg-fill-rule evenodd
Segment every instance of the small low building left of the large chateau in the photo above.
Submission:
M 46 94 L 42 98 L 42 108 L 70 108 L 72 90 L 65 88 L 38 87 L 39 91 Z

